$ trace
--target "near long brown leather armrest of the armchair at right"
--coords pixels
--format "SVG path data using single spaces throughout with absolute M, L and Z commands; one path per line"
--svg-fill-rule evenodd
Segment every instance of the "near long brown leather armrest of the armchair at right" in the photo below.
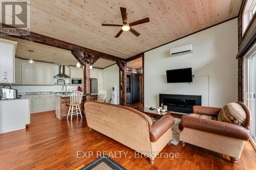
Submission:
M 248 140 L 250 136 L 243 126 L 193 116 L 182 116 L 181 126 L 242 140 Z

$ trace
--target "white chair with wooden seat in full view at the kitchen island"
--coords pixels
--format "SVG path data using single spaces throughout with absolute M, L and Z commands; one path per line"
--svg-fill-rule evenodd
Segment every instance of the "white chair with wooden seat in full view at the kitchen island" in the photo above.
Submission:
M 71 116 L 70 120 L 72 120 L 73 115 L 77 115 L 78 117 L 78 114 L 80 114 L 82 118 L 82 113 L 79 106 L 81 104 L 81 101 L 82 101 L 82 92 L 74 91 L 70 96 L 70 103 L 68 104 L 69 112 L 68 112 L 67 119 L 69 118 L 69 115 L 70 115 Z

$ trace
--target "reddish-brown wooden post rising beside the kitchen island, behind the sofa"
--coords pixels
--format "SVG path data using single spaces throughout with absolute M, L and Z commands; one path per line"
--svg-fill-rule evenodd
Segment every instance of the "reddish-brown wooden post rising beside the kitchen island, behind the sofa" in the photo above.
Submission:
M 84 94 L 86 94 L 86 101 L 91 100 L 90 63 L 87 61 L 83 70 L 83 88 Z

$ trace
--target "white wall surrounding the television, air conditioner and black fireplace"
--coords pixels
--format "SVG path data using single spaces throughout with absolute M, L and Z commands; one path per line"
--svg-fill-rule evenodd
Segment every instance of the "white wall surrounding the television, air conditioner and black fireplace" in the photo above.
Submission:
M 169 56 L 170 48 L 191 43 L 193 53 Z M 146 52 L 145 106 L 159 106 L 159 93 L 202 95 L 203 106 L 223 107 L 237 102 L 237 53 L 237 18 Z M 166 70 L 186 67 L 192 67 L 197 76 L 193 83 L 166 82 Z

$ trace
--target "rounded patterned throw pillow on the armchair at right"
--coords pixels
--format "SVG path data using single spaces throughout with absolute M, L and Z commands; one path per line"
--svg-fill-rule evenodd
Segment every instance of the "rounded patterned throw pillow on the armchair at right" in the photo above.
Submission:
M 218 121 L 245 126 L 246 113 L 239 103 L 229 103 L 221 109 Z

